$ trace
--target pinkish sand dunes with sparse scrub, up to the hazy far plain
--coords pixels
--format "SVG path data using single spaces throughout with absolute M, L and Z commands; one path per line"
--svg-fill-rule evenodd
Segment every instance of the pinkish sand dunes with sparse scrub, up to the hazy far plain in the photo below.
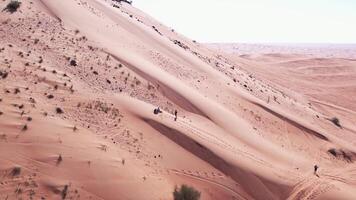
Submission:
M 356 199 L 351 58 L 225 53 L 109 0 L 0 23 L 0 199 Z

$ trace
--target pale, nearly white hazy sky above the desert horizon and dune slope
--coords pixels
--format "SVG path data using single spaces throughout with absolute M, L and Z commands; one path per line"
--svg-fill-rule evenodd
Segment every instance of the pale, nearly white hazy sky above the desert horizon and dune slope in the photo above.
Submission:
M 356 0 L 133 0 L 200 42 L 356 43 Z

